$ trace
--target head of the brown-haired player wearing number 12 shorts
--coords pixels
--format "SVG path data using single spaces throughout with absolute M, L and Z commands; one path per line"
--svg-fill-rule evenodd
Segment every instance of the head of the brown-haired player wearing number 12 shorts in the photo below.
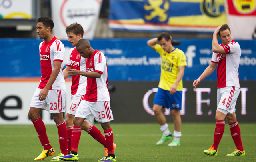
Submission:
M 66 27 L 66 34 L 72 46 L 76 46 L 77 42 L 84 36 L 84 28 L 82 25 L 75 22 Z

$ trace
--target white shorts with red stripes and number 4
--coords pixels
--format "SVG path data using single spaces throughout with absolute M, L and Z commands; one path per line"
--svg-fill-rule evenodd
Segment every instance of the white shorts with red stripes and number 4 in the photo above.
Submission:
M 217 90 L 217 110 L 226 115 L 236 112 L 236 100 L 239 93 L 239 87 L 227 86 L 219 88 Z

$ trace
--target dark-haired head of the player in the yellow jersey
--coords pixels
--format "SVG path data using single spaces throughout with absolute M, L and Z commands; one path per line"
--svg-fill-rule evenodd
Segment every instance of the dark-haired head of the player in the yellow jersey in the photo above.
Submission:
M 164 49 L 166 52 L 171 52 L 171 49 L 173 48 L 172 46 L 172 36 L 166 32 L 162 32 L 159 34 L 157 37 L 157 40 L 161 47 Z

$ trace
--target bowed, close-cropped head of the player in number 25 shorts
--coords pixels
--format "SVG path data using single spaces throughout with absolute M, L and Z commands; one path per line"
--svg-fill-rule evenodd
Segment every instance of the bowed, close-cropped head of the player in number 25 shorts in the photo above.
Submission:
M 93 53 L 93 49 L 87 39 L 80 39 L 76 44 L 76 50 L 84 58 L 88 58 Z

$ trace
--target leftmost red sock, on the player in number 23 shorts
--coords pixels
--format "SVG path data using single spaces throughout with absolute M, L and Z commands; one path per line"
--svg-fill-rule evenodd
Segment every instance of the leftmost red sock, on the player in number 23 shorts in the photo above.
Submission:
M 46 134 L 46 128 L 41 117 L 35 120 L 31 120 L 31 122 L 34 124 L 34 127 L 36 128 L 37 135 L 39 137 L 39 140 L 42 146 L 44 146 L 44 150 L 50 150 L 52 146 L 48 140 L 48 137 Z

